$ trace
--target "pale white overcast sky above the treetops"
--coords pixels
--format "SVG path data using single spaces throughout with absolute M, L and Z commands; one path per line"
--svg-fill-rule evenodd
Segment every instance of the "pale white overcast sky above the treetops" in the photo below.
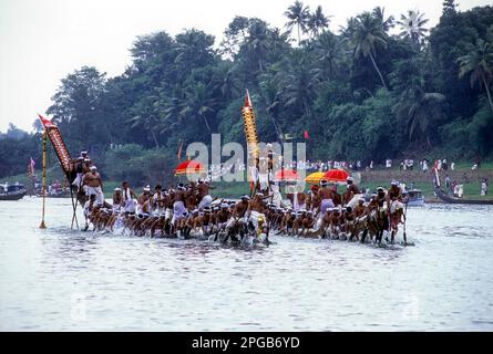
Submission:
M 0 0 L 0 132 L 9 122 L 31 131 L 43 114 L 60 80 L 82 65 L 109 76 L 131 63 L 129 49 L 136 35 L 166 31 L 174 35 L 196 28 L 220 42 L 235 15 L 258 17 L 283 28 L 284 12 L 295 0 Z M 346 19 L 376 6 L 396 17 L 419 9 L 434 25 L 442 0 L 305 0 L 331 15 L 336 31 Z M 460 0 L 460 10 L 490 4 Z

